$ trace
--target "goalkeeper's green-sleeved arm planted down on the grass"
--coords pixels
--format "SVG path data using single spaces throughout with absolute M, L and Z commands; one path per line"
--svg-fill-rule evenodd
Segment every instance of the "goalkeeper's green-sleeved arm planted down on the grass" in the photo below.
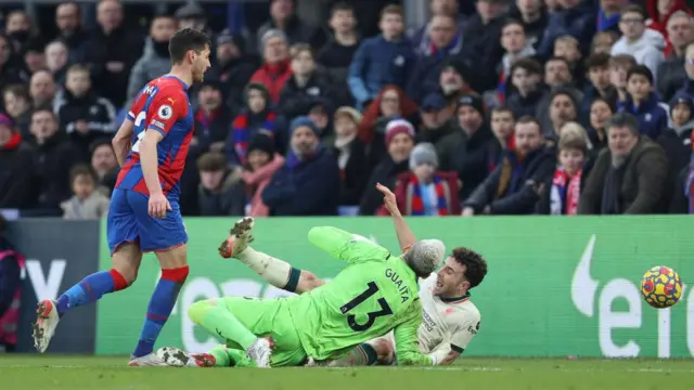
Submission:
M 396 360 L 398 365 L 436 365 L 436 356 L 420 352 L 417 330 L 422 324 L 422 303 L 419 299 L 408 308 L 408 320 L 395 328 Z

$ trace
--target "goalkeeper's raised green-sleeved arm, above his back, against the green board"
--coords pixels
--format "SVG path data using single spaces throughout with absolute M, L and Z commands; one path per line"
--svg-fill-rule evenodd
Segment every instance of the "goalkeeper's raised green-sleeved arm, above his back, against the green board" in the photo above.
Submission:
M 335 259 L 356 264 L 364 260 L 385 260 L 386 248 L 358 234 L 333 226 L 316 226 L 308 232 L 308 240 Z

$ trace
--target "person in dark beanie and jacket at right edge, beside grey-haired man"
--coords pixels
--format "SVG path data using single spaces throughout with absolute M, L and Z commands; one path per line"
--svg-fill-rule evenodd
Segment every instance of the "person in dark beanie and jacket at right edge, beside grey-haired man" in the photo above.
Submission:
M 678 93 L 670 102 L 670 128 L 658 136 L 658 144 L 670 160 L 670 170 L 679 172 L 692 159 L 692 130 L 694 130 L 694 100 Z

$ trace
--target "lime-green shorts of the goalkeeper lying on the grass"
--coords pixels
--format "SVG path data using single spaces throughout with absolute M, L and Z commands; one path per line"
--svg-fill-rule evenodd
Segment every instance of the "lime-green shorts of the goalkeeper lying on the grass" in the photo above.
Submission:
M 308 356 L 285 299 L 231 297 L 218 299 L 218 306 L 227 308 L 254 335 L 272 338 L 274 348 L 270 358 L 271 366 L 297 366 L 307 362 Z M 229 347 L 234 343 L 228 341 Z

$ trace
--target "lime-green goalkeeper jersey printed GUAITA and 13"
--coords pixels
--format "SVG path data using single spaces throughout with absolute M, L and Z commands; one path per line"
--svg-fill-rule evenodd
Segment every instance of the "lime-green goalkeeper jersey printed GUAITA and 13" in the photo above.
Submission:
M 313 227 L 309 240 L 349 265 L 330 283 L 290 299 L 306 353 L 321 361 L 395 329 L 398 364 L 432 364 L 419 352 L 422 303 L 417 277 L 397 256 L 336 227 Z

